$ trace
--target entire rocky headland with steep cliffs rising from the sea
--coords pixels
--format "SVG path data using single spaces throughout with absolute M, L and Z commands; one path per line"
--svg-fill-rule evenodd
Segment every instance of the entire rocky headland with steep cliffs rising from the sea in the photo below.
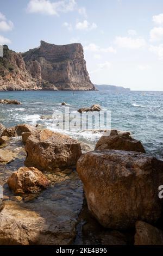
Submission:
M 0 90 L 94 90 L 81 44 L 53 45 L 15 53 L 4 46 Z

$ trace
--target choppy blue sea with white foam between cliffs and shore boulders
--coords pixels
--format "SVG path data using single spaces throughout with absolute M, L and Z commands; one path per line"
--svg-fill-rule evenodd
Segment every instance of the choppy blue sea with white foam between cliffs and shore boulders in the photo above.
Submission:
M 40 119 L 63 108 L 65 101 L 70 111 L 95 103 L 111 111 L 111 129 L 131 131 L 140 139 L 147 152 L 163 159 L 163 92 L 0 92 L 1 99 L 17 99 L 22 105 L 0 105 L 0 122 L 5 126 L 20 123 L 42 124 L 52 129 L 52 119 Z M 91 131 L 62 131 L 93 147 L 101 133 Z

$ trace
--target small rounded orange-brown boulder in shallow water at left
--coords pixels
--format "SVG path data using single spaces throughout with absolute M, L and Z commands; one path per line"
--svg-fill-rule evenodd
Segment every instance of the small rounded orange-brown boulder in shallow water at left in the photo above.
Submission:
M 47 188 L 49 180 L 34 167 L 21 167 L 8 179 L 8 185 L 14 193 L 38 193 Z

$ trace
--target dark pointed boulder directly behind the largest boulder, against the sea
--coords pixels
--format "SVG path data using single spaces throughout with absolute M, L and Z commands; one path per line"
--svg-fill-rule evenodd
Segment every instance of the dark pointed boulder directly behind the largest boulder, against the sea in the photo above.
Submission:
M 133 139 L 130 136 L 130 132 L 122 132 L 117 130 L 111 130 L 108 132 L 110 135 L 106 136 L 107 132 L 104 133 L 104 135 L 97 142 L 95 149 L 118 149 L 146 153 L 142 143 L 136 139 Z

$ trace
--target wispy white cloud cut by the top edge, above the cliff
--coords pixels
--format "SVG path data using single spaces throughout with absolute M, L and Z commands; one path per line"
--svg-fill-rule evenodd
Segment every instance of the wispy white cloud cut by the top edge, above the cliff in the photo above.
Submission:
M 49 0 L 30 0 L 27 6 L 28 13 L 41 13 L 46 15 L 59 15 L 76 8 L 75 0 L 61 0 L 51 2 Z

